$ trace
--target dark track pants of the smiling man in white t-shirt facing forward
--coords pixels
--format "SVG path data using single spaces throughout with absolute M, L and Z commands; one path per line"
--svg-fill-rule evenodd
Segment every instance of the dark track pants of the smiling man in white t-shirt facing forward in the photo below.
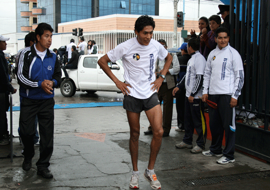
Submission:
M 211 152 L 221 154 L 229 159 L 234 159 L 235 143 L 235 108 L 230 107 L 231 95 L 208 95 L 208 99 L 217 104 L 217 109 L 208 106 L 209 126 L 212 135 Z M 222 140 L 225 130 L 225 148 L 222 150 Z

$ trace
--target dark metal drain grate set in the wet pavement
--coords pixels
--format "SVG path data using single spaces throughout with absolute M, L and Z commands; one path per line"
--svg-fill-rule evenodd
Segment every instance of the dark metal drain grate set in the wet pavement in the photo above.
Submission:
M 195 185 L 203 185 L 203 184 L 213 184 L 213 183 L 221 183 L 221 182 L 230 182 L 244 179 L 254 179 L 261 177 L 270 177 L 270 170 L 266 171 L 258 171 L 258 172 L 250 172 L 250 173 L 240 173 L 226 176 L 217 176 L 217 177 L 207 177 L 200 179 L 191 179 L 183 181 L 188 186 Z

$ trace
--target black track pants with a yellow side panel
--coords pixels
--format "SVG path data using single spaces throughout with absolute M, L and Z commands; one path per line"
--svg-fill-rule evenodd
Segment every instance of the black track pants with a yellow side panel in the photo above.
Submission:
M 194 128 L 198 134 L 196 143 L 204 149 L 207 137 L 207 127 L 204 116 L 204 103 L 201 99 L 193 99 L 190 103 L 188 98 L 185 97 L 184 106 L 184 137 L 183 142 L 192 144 Z

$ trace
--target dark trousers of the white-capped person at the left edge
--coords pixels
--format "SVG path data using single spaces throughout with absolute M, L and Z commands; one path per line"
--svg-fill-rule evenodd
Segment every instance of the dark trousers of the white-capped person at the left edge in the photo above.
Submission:
M 0 140 L 3 138 L 4 134 L 8 135 L 7 130 L 7 118 L 6 111 L 9 107 L 9 99 L 7 93 L 0 93 Z

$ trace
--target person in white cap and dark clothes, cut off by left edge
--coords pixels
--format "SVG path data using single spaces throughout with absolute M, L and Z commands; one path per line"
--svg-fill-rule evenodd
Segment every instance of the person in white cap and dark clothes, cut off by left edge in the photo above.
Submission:
M 9 107 L 8 94 L 17 91 L 8 79 L 8 64 L 3 52 L 6 49 L 6 40 L 9 40 L 9 37 L 0 35 L 0 145 L 9 144 L 6 118 L 6 111 Z

